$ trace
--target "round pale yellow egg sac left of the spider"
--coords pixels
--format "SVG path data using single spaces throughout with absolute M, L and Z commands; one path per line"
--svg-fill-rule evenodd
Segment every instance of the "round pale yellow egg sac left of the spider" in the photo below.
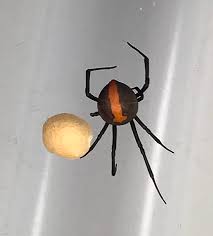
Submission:
M 49 152 L 77 159 L 90 148 L 92 129 L 83 119 L 68 113 L 50 117 L 43 125 L 43 143 Z

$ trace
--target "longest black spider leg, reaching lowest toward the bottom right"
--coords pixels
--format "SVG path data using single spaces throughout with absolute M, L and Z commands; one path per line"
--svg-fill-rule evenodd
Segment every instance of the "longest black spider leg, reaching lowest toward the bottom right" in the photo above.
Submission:
M 138 132 L 137 132 L 137 130 L 136 130 L 135 123 L 134 123 L 133 120 L 130 121 L 130 125 L 131 125 L 131 128 L 132 128 L 132 132 L 133 132 L 133 134 L 134 134 L 136 143 L 138 144 L 138 147 L 139 147 L 139 149 L 140 149 L 140 151 L 141 151 L 141 154 L 143 155 L 143 159 L 144 159 L 144 161 L 145 161 L 147 170 L 148 170 L 148 172 L 149 172 L 149 176 L 151 177 L 151 179 L 152 179 L 152 181 L 153 181 L 153 183 L 154 183 L 154 185 L 155 185 L 155 188 L 156 188 L 156 190 L 157 190 L 157 192 L 158 192 L 160 198 L 161 198 L 161 199 L 163 200 L 163 202 L 166 204 L 166 201 L 164 200 L 164 198 L 163 198 L 162 194 L 160 193 L 160 190 L 158 189 L 158 186 L 157 186 L 157 184 L 156 184 L 156 182 L 155 182 L 154 174 L 153 174 L 153 172 L 152 172 L 151 166 L 149 165 L 149 161 L 148 161 L 148 159 L 147 159 L 147 157 L 146 157 L 145 150 L 144 150 L 143 145 L 142 145 L 142 143 L 141 143 L 141 141 L 140 141 L 140 138 L 139 138 L 139 136 L 138 136 Z

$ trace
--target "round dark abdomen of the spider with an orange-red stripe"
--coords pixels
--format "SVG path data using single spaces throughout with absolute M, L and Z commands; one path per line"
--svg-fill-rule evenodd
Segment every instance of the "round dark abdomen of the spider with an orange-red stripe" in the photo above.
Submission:
M 132 89 L 116 80 L 111 80 L 98 97 L 98 112 L 109 124 L 123 125 L 137 114 L 138 101 Z

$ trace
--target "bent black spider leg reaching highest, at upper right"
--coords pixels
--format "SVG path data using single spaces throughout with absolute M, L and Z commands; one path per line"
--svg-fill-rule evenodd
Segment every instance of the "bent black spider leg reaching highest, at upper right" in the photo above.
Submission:
M 143 58 L 144 58 L 144 66 L 145 66 L 145 83 L 143 85 L 143 87 L 140 89 L 140 91 L 138 91 L 138 93 L 136 94 L 137 98 L 138 98 L 138 102 L 140 102 L 141 100 L 143 100 L 144 96 L 143 93 L 148 89 L 149 87 L 149 58 L 142 53 L 139 49 L 137 49 L 136 47 L 134 47 L 131 43 L 127 42 L 127 44 L 133 48 L 135 51 L 137 51 Z

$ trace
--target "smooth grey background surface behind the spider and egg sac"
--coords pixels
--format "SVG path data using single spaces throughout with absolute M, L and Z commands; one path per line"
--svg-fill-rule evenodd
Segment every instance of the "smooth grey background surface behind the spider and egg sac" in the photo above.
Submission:
M 213 217 L 213 2 L 20 0 L 0 3 L 0 235 L 200 236 Z M 138 131 L 165 206 L 129 125 L 119 127 L 111 177 L 111 130 L 81 161 L 49 154 L 47 117 L 70 112 L 96 136 L 103 121 L 85 97 L 85 69 L 97 94 L 112 78 L 150 88 L 138 116 L 166 145 Z

